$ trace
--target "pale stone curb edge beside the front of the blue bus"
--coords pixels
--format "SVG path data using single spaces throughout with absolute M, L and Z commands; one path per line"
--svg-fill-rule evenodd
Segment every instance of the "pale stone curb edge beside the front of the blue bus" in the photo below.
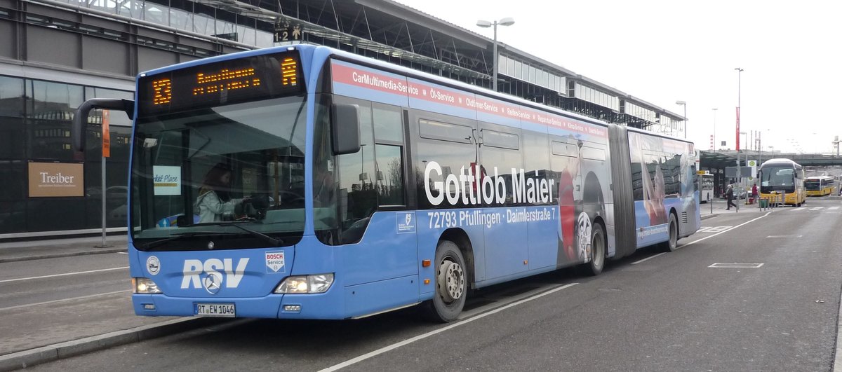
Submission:
M 0 355 L 0 371 L 23 369 L 35 364 L 43 364 L 58 359 L 70 358 L 83 353 L 90 353 L 104 348 L 112 348 L 126 343 L 136 343 L 150 338 L 167 336 L 173 333 L 189 331 L 198 327 L 219 324 L 219 318 L 180 318 L 167 322 L 135 327 L 123 331 L 109 332 L 98 336 L 55 343 L 40 348 Z

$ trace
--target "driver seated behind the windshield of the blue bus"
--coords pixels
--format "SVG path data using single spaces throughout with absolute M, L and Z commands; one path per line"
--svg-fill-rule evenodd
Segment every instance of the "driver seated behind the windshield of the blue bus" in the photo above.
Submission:
M 223 221 L 234 214 L 237 205 L 248 202 L 248 198 L 231 199 L 231 170 L 219 163 L 205 174 L 205 181 L 199 189 L 199 197 L 193 206 L 199 213 L 199 223 Z

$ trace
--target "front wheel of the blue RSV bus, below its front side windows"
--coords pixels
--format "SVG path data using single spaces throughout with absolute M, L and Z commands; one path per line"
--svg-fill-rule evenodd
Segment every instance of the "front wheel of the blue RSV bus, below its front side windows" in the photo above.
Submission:
M 465 259 L 456 243 L 443 240 L 435 248 L 435 265 L 435 292 L 424 312 L 434 322 L 452 322 L 465 306 Z

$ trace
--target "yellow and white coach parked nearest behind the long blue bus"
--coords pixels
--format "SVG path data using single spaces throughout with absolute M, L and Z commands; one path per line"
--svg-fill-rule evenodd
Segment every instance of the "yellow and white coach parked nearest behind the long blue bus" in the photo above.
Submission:
M 760 198 L 775 199 L 786 205 L 801 206 L 807 199 L 804 189 L 804 167 L 790 159 L 771 159 L 759 169 Z M 778 199 L 780 200 L 780 199 Z

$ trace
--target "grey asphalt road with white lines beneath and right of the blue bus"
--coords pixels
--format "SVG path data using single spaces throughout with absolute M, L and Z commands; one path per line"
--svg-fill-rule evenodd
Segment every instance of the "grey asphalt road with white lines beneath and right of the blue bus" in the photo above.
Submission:
M 32 369 L 830 370 L 840 205 L 718 215 L 678 251 L 643 250 L 598 277 L 563 270 L 482 290 L 447 325 L 413 309 L 238 320 Z

